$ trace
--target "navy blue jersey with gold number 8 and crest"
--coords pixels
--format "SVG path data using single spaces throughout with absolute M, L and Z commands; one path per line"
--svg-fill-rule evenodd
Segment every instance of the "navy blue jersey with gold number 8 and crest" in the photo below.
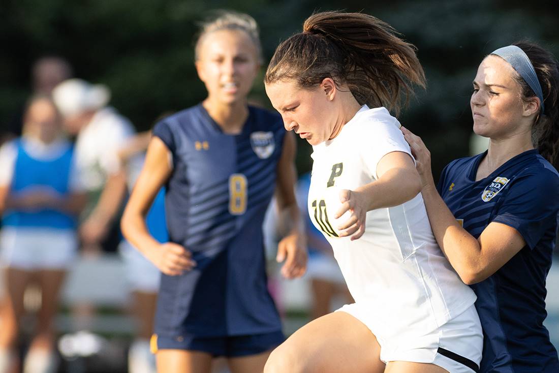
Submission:
M 173 157 L 165 195 L 169 240 L 197 263 L 181 276 L 162 275 L 155 333 L 280 330 L 267 289 L 262 221 L 286 134 L 281 117 L 249 107 L 241 133 L 231 135 L 200 104 L 159 122 L 153 134 Z

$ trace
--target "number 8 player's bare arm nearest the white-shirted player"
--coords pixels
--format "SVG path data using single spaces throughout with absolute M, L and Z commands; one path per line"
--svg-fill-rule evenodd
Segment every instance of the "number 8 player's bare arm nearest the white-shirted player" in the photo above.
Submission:
M 277 167 L 276 198 L 280 216 L 289 219 L 289 233 L 278 244 L 276 260 L 282 262 L 281 272 L 287 278 L 301 277 L 306 271 L 307 250 L 305 224 L 295 199 L 293 186 L 297 180 L 295 171 L 295 137 L 289 132 L 283 141 L 282 154 Z M 285 211 L 285 214 L 283 213 Z

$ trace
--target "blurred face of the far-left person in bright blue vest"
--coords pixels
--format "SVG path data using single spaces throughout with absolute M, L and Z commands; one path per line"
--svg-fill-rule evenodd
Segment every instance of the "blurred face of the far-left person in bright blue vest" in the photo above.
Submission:
M 58 112 L 48 100 L 31 103 L 25 117 L 25 130 L 42 140 L 53 140 L 60 130 Z

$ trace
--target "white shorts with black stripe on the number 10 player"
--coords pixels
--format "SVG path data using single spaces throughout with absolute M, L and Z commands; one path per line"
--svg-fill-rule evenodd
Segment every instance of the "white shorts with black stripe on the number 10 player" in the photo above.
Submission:
M 359 319 L 354 305 L 355 303 L 344 305 L 338 311 L 344 311 Z M 380 358 L 385 363 L 389 361 L 430 363 L 451 373 L 479 371 L 483 334 L 473 304 L 431 333 L 417 336 L 415 339 L 406 337 L 387 340 L 377 337 L 377 341 L 381 346 Z

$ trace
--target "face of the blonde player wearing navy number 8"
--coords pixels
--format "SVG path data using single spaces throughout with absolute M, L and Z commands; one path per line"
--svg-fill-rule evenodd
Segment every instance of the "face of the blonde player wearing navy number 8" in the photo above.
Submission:
M 196 69 L 211 100 L 230 105 L 245 101 L 258 73 L 257 48 L 241 30 L 220 30 L 203 36 Z

